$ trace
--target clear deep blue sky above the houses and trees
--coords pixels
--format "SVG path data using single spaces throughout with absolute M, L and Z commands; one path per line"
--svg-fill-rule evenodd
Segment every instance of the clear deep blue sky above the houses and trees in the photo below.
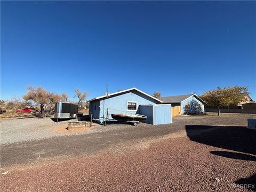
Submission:
M 1 1 L 1 98 L 239 85 L 255 100 L 255 18 L 256 2 Z

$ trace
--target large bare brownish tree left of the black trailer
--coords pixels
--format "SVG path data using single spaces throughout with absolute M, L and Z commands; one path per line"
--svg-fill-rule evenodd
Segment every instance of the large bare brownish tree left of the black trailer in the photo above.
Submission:
M 43 118 L 54 110 L 55 102 L 61 100 L 60 95 L 48 92 L 41 86 L 38 86 L 36 89 L 34 86 L 27 86 L 27 90 L 28 92 L 22 98 L 27 106 L 37 111 Z

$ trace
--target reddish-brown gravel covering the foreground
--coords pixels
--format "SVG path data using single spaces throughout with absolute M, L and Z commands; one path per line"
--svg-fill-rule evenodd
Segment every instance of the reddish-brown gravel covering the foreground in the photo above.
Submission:
M 255 190 L 255 154 L 190 139 L 160 139 L 122 153 L 101 151 L 10 170 L 1 175 L 1 191 L 247 191 L 236 185 L 243 178 Z

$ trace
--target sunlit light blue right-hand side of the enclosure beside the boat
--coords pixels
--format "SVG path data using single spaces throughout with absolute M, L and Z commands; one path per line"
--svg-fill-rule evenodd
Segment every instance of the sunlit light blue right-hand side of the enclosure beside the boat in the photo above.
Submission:
M 172 123 L 172 105 L 154 105 L 154 125 Z

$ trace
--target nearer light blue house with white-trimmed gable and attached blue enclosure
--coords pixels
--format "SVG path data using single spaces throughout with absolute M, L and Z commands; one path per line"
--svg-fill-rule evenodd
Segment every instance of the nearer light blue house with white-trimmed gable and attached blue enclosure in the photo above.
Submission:
M 113 120 L 111 114 L 116 113 L 146 115 L 148 118 L 145 123 L 150 124 L 171 123 L 171 105 L 159 105 L 161 100 L 135 87 L 108 93 L 87 102 L 90 102 L 89 116 L 99 123 Z

